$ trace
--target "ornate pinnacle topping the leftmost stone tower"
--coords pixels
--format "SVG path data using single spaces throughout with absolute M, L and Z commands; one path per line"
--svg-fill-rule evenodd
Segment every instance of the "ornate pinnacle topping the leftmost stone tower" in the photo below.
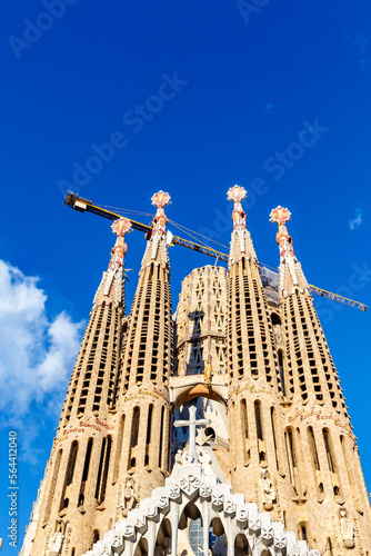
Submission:
M 108 265 L 108 270 L 103 272 L 102 280 L 94 296 L 93 305 L 99 307 L 102 304 L 114 305 L 124 304 L 123 296 L 123 259 L 127 252 L 127 244 L 123 238 L 131 230 L 131 222 L 127 218 L 114 220 L 111 226 L 113 234 L 117 235 L 117 240 L 111 249 L 111 260 Z

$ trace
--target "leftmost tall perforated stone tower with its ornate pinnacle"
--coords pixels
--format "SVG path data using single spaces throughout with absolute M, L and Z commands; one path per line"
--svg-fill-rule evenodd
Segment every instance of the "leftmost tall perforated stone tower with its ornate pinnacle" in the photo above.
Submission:
M 73 549 L 71 554 L 81 554 L 108 519 L 107 499 L 118 496 L 118 488 L 112 490 L 112 450 L 117 450 L 114 414 L 124 310 L 124 235 L 131 224 L 120 218 L 112 230 L 117 240 L 72 371 L 40 489 L 34 540 L 24 556 L 59 554 L 61 548 L 53 552 L 59 542 L 64 543 L 63 554 L 68 546 Z

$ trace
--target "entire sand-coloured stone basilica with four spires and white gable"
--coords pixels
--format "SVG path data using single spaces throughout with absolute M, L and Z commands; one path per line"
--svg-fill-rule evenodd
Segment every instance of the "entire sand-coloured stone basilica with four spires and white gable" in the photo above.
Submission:
M 176 314 L 164 207 L 126 315 L 120 218 L 22 556 L 370 556 L 371 513 L 339 375 L 278 207 L 262 276 L 234 186 L 228 269 Z

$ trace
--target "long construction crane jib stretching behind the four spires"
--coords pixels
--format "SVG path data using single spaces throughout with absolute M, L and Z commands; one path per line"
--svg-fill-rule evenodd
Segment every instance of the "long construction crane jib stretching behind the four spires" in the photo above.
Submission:
M 68 207 L 71 207 L 74 210 L 78 210 L 79 212 L 92 212 L 93 215 L 102 216 L 103 218 L 107 218 L 108 220 L 117 220 L 118 218 L 122 218 L 122 215 L 119 215 L 118 212 L 113 212 L 112 210 L 109 210 L 108 208 L 100 207 L 99 205 L 94 205 L 91 200 L 84 199 L 83 197 L 80 197 L 79 195 L 74 193 L 73 191 L 68 191 L 66 199 L 64 199 L 64 205 Z M 127 218 L 127 217 L 126 217 Z M 149 238 L 150 234 L 152 232 L 151 226 L 147 226 L 146 224 L 138 222 L 131 218 L 128 218 L 130 220 L 131 226 L 134 230 L 140 230 L 146 234 L 146 237 Z M 213 257 L 217 260 L 223 260 L 228 261 L 228 255 L 221 251 L 217 251 L 215 249 L 212 249 L 212 247 L 208 246 L 202 246 L 199 244 L 195 244 L 193 241 L 190 241 L 188 239 L 180 238 L 178 236 L 173 236 L 171 232 L 169 237 L 169 245 L 180 245 L 182 247 L 187 247 L 187 249 L 192 249 L 193 251 L 201 252 L 203 255 L 208 255 L 209 257 Z M 263 265 L 263 264 L 261 264 Z M 269 268 L 269 265 L 263 265 L 264 267 Z M 269 272 L 274 275 L 275 277 L 278 276 L 278 272 L 275 270 L 269 269 Z M 327 291 L 325 289 L 319 288 L 317 286 L 313 286 L 309 284 L 309 290 L 311 294 L 315 294 L 318 296 L 324 297 L 327 299 L 332 299 L 333 301 L 338 301 L 343 305 L 348 305 L 349 307 L 354 307 L 355 309 L 360 309 L 362 311 L 365 311 L 368 309 L 368 306 L 364 304 L 361 304 L 360 301 L 354 301 L 353 299 L 348 299 L 347 297 L 340 296 L 339 294 L 332 294 L 331 291 Z

